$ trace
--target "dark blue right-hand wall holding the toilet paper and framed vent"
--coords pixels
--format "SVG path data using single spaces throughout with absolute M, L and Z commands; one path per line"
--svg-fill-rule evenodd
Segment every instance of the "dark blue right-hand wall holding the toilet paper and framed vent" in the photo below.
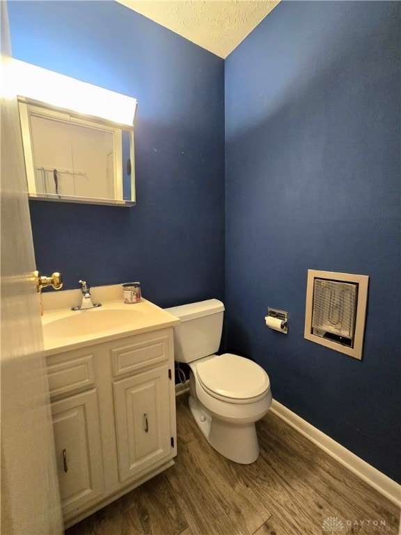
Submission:
M 284 1 L 226 60 L 229 348 L 398 481 L 400 124 L 399 2 Z M 304 339 L 308 269 L 369 275 L 362 362 Z

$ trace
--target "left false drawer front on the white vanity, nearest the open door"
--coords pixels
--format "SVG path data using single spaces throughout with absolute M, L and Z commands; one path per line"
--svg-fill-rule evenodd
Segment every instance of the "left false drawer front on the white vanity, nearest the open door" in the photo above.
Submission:
M 82 355 L 54 355 L 47 359 L 47 378 L 50 396 L 59 396 L 75 390 L 90 388 L 95 384 L 93 353 Z

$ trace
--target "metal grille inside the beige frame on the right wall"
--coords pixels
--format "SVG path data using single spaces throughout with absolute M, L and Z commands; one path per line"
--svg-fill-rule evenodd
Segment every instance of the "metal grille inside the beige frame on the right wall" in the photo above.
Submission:
M 358 284 L 315 279 L 313 329 L 354 339 L 357 297 Z

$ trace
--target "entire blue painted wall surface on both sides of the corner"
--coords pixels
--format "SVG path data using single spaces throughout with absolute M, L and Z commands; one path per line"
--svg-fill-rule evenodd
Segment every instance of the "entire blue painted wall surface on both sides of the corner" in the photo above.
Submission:
M 138 205 L 31 202 L 38 269 L 225 299 L 274 397 L 400 481 L 400 3 L 283 1 L 225 62 L 118 3 L 8 10 L 15 57 L 139 100 Z M 362 362 L 304 339 L 308 269 L 370 276 Z

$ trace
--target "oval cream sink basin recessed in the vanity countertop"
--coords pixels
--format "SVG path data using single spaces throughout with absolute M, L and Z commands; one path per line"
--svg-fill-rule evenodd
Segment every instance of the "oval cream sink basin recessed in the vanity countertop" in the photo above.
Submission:
M 105 332 L 129 330 L 143 317 L 138 309 L 88 309 L 71 312 L 68 316 L 43 325 L 45 338 L 91 336 Z

